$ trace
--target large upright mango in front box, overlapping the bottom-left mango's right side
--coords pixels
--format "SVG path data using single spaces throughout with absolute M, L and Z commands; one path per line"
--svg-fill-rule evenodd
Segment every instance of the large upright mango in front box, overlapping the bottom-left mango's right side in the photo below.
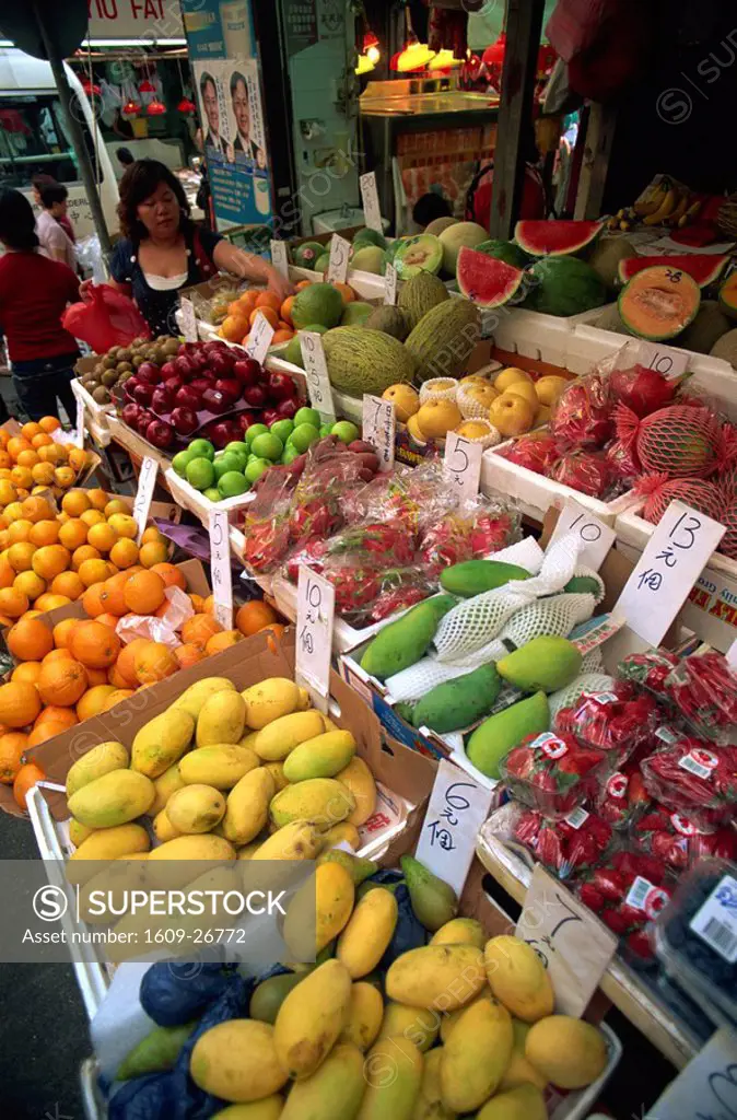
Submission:
M 309 1077 L 333 1049 L 348 1014 L 351 987 L 346 969 L 330 960 L 289 992 L 273 1028 L 277 1057 L 289 1077 Z

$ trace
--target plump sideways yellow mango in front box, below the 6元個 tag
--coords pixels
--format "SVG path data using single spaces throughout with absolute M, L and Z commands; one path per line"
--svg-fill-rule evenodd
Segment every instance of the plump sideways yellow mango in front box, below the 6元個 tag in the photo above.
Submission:
M 386 995 L 399 1004 L 455 1011 L 486 984 L 484 954 L 474 945 L 423 945 L 399 956 L 386 973 Z

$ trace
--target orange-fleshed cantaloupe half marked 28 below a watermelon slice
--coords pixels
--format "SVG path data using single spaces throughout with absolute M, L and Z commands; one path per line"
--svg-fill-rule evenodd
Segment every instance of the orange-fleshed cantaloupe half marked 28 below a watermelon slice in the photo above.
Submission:
M 619 292 L 622 321 L 641 338 L 674 338 L 696 317 L 701 290 L 680 269 L 643 269 Z

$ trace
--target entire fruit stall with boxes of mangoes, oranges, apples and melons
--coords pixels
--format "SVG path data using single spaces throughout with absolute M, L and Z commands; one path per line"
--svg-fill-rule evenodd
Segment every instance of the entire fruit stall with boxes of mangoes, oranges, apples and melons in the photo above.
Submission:
M 75 903 L 91 1117 L 655 1116 L 721 1060 L 737 273 L 663 194 L 301 244 L 0 428 L 0 809 Z M 92 908 L 260 874 L 209 955 Z

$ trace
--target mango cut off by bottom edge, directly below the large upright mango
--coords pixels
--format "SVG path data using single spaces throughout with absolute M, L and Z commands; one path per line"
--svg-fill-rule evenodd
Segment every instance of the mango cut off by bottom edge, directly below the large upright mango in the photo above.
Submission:
M 346 1120 L 356 1114 L 364 1088 L 363 1054 L 339 1042 L 310 1077 L 292 1085 L 279 1120 Z

